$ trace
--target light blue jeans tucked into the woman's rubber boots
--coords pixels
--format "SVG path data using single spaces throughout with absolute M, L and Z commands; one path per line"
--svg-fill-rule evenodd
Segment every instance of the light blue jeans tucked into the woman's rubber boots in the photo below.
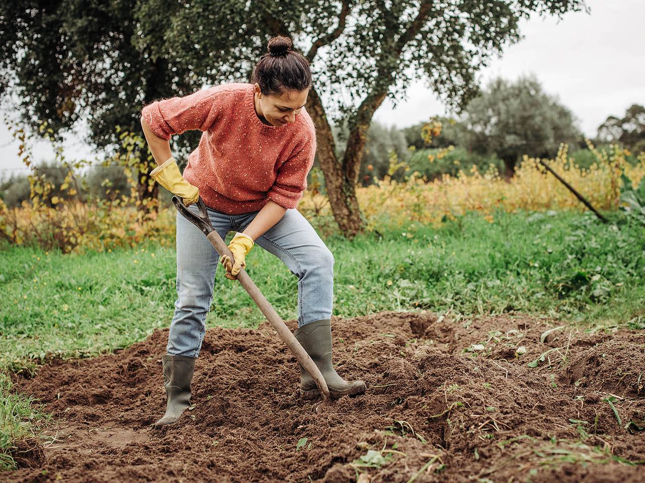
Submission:
M 199 214 L 195 205 L 188 209 Z M 229 215 L 208 208 L 210 222 L 222 240 L 229 231 L 243 231 L 257 213 Z M 297 276 L 298 327 L 331 318 L 334 258 L 299 211 L 288 209 L 279 222 L 255 240 L 255 245 L 277 256 Z M 250 263 L 252 260 L 251 255 Z M 219 255 L 206 235 L 177 212 L 177 300 L 168 354 L 199 355 L 218 265 Z M 225 293 L 226 286 L 222 289 Z M 248 302 L 253 303 L 251 298 Z

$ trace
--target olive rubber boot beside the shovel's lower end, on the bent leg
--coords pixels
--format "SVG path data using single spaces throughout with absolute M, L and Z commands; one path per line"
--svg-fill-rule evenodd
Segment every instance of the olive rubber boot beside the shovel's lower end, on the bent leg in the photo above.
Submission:
M 304 350 L 320 369 L 332 397 L 357 395 L 365 392 L 363 381 L 344 381 L 336 374 L 332 365 L 332 323 L 330 319 L 303 325 L 293 334 Z M 314 399 L 320 395 L 313 378 L 300 365 L 300 395 L 303 399 Z

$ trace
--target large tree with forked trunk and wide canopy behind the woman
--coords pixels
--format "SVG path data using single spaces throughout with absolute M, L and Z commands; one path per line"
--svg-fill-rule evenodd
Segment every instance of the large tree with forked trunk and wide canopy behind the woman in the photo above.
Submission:
M 32 2 L 41 9 L 50 5 L 44 0 Z M 67 0 L 54 5 L 68 19 L 70 15 L 62 10 L 76 4 L 89 8 L 94 2 Z M 193 0 L 190 5 L 139 0 L 113 4 L 105 8 L 110 10 L 105 14 L 114 15 L 106 21 L 114 28 L 101 24 L 101 29 L 90 29 L 90 35 L 83 35 L 100 39 L 114 30 L 119 32 L 120 43 L 134 44 L 139 57 L 134 56 L 131 65 L 119 72 L 130 77 L 133 73 L 134 77 L 145 75 L 148 83 L 131 82 L 146 94 L 148 90 L 142 86 L 165 86 L 166 91 L 159 87 L 154 96 L 168 95 L 168 91 L 172 95 L 186 93 L 188 86 L 195 88 L 201 82 L 246 80 L 271 35 L 292 37 L 296 48 L 312 62 L 315 85 L 307 110 L 318 132 L 317 154 L 330 205 L 346 236 L 364 227 L 355 184 L 372 116 L 386 97 L 395 99 L 412 79 L 424 77 L 448 106 L 465 105 L 477 92 L 476 71 L 506 43 L 520 38 L 522 17 L 533 12 L 560 16 L 586 8 L 582 0 Z M 83 10 L 75 8 L 74 12 L 76 23 L 86 23 L 79 15 Z M 10 23 L 11 18 L 4 23 Z M 27 22 L 23 19 L 18 24 Z M 74 20 L 67 24 L 74 24 Z M 126 33 L 121 33 L 123 30 Z M 43 35 L 58 46 L 57 35 Z M 107 37 L 108 41 L 111 38 Z M 62 43 L 70 43 L 68 39 Z M 81 42 L 73 55 L 84 59 L 81 51 L 87 48 L 94 52 L 88 43 Z M 103 60 L 119 57 L 112 52 L 114 49 L 107 49 Z M 119 59 L 114 62 L 116 66 L 123 64 Z M 83 62 L 74 65 L 86 71 Z M 112 72 L 112 66 L 104 70 Z M 61 91 L 61 105 L 77 93 L 62 90 L 59 84 L 55 87 Z M 330 105 L 324 106 L 323 95 Z M 136 105 L 130 112 L 138 115 L 141 102 L 152 98 L 131 99 L 136 99 Z M 336 156 L 332 117 L 345 118 L 350 126 L 342 159 Z

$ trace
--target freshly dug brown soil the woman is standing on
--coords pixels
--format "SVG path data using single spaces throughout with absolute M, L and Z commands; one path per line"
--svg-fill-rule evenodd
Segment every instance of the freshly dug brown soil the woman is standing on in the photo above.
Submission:
M 368 389 L 323 413 L 299 399 L 295 357 L 268 323 L 214 328 L 197 359 L 194 408 L 152 430 L 165 408 L 168 331 L 157 330 L 117 354 L 55 361 L 18 381 L 55 423 L 0 480 L 642 483 L 645 334 L 544 335 L 557 325 L 335 317 L 337 370 Z

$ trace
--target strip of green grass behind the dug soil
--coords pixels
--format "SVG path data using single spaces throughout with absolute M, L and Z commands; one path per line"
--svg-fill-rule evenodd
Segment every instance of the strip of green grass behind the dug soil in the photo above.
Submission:
M 582 326 L 645 328 L 645 227 L 611 216 L 615 225 L 579 213 L 498 213 L 493 223 L 468 214 L 439 229 L 417 223 L 352 241 L 325 236 L 336 260 L 333 313 L 517 311 Z M 294 319 L 297 279 L 259 247 L 247 265 L 278 314 Z M 34 372 L 53 355 L 96 355 L 168 327 L 174 247 L 83 255 L 7 247 L 0 289 L 0 369 Z M 218 270 L 207 326 L 262 320 L 241 285 Z M 7 389 L 0 399 L 10 397 Z M 5 414 L 24 416 L 5 411 L 3 421 L 11 419 Z M 7 424 L 3 435 L 13 434 Z

